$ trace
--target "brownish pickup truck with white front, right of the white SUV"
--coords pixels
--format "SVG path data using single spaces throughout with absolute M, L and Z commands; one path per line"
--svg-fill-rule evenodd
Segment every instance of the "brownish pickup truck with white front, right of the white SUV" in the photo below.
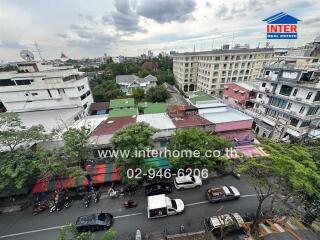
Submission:
M 209 202 L 235 200 L 240 198 L 240 192 L 233 186 L 211 187 L 206 191 Z

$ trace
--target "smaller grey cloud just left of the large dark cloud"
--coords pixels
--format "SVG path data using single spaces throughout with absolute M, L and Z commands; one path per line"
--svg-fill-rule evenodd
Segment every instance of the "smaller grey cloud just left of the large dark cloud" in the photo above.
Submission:
M 129 0 L 115 1 L 115 11 L 103 16 L 105 24 L 112 24 L 116 30 L 127 33 L 146 32 L 139 26 L 140 16 L 131 8 Z

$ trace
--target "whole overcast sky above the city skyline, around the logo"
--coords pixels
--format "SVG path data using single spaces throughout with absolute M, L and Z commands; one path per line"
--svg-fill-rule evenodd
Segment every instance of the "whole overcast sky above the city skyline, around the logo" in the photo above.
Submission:
M 47 59 L 136 56 L 266 44 L 263 19 L 286 12 L 301 23 L 298 46 L 320 34 L 319 0 L 0 0 L 0 61 L 20 60 L 36 41 Z

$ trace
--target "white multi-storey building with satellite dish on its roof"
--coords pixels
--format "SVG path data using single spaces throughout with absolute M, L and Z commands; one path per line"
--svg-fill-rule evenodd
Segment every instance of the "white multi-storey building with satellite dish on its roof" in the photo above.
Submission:
M 17 67 L 0 73 L 0 102 L 9 112 L 88 109 L 93 102 L 88 78 L 72 66 L 21 62 Z

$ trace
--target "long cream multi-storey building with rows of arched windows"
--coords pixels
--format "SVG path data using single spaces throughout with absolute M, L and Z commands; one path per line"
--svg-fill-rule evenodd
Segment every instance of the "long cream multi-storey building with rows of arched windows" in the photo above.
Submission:
M 178 53 L 173 56 L 173 73 L 184 92 L 221 95 L 225 83 L 255 80 L 273 53 L 273 48 Z

